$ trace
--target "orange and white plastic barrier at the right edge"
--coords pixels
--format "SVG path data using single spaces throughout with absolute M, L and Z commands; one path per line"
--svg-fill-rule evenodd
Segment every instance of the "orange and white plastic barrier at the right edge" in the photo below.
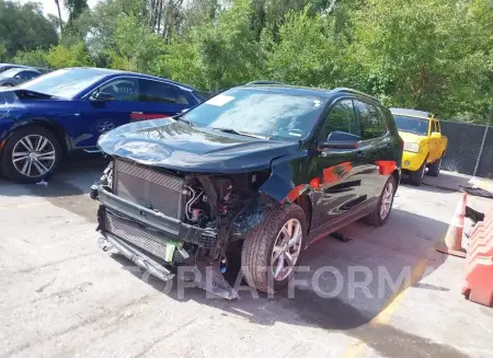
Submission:
M 462 293 L 470 301 L 493 305 L 493 208 L 475 224 L 466 257 Z

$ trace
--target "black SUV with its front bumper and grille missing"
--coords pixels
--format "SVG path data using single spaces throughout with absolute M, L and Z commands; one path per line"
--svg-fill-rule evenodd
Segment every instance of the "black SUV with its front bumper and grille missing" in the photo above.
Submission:
M 168 280 L 180 266 L 226 298 L 228 253 L 264 292 L 343 226 L 389 218 L 403 142 L 376 99 L 349 89 L 248 84 L 186 113 L 104 134 L 112 158 L 91 187 L 101 243 Z

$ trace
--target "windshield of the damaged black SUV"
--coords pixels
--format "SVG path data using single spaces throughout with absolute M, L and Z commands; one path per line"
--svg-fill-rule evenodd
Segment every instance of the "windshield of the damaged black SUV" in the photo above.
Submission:
M 324 101 L 282 90 L 237 88 L 209 99 L 182 119 L 197 127 L 298 141 L 310 132 Z

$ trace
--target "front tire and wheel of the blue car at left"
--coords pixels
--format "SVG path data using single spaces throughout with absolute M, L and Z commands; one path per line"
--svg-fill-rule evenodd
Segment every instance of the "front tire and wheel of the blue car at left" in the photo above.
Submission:
M 28 157 L 21 158 L 20 154 Z M 21 128 L 13 132 L 3 148 L 2 174 L 16 183 L 34 184 L 47 178 L 60 159 L 60 143 L 50 130 L 43 127 Z

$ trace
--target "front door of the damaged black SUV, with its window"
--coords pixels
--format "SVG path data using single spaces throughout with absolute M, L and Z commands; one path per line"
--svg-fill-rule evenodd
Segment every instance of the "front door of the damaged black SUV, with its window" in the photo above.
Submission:
M 334 131 L 362 136 L 352 99 L 340 100 L 332 105 L 318 142 L 326 140 Z M 349 220 L 351 213 L 364 206 L 368 198 L 367 180 L 372 170 L 372 165 L 368 165 L 365 148 L 323 150 L 317 153 L 309 168 L 316 174 L 310 185 L 318 188 L 312 192 L 311 198 L 313 228 L 325 231 L 328 227 Z

